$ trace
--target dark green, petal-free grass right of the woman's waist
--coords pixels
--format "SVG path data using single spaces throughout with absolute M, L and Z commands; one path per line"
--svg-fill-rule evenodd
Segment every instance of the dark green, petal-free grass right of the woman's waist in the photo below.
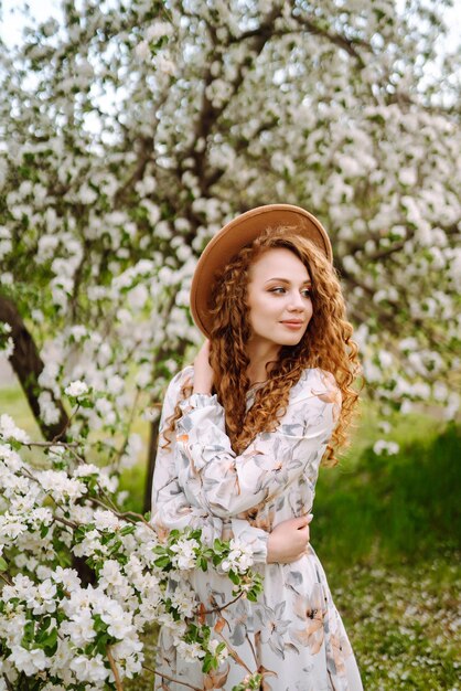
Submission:
M 461 428 L 414 442 L 396 456 L 366 449 L 355 469 L 321 470 L 312 543 L 339 567 L 351 561 L 415 562 L 446 548 L 461 549 Z

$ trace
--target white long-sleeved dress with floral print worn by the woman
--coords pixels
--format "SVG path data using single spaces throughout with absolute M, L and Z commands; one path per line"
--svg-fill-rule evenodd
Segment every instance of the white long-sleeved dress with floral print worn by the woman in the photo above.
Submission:
M 180 372 L 167 392 L 160 428 L 172 415 L 193 368 Z M 255 389 L 247 394 L 248 408 Z M 341 410 L 333 375 L 308 369 L 291 389 L 275 432 L 260 433 L 236 456 L 215 395 L 193 394 L 180 403 L 182 417 L 168 448 L 159 445 L 152 490 L 152 523 L 162 535 L 173 528 L 202 528 L 203 539 L 238 539 L 253 550 L 264 577 L 257 603 L 239 598 L 219 614 L 222 639 L 236 655 L 204 674 L 187 662 L 174 636 L 160 631 L 156 689 L 226 689 L 247 670 L 264 672 L 264 691 L 362 691 L 358 669 L 322 565 L 312 549 L 290 564 L 267 564 L 269 532 L 312 509 L 319 465 Z M 225 575 L 191 570 L 189 581 L 207 610 L 233 599 Z M 216 615 L 207 615 L 216 624 Z

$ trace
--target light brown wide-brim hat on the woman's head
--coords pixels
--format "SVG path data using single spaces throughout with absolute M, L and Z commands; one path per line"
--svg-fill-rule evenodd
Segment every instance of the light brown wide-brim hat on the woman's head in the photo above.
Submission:
M 333 252 L 326 231 L 309 211 L 291 204 L 267 204 L 247 211 L 233 219 L 210 241 L 195 267 L 191 286 L 192 317 L 203 333 L 208 337 L 212 328 L 210 298 L 214 283 L 243 247 L 249 245 L 268 227 L 296 226 L 297 231 L 311 240 L 333 261 Z

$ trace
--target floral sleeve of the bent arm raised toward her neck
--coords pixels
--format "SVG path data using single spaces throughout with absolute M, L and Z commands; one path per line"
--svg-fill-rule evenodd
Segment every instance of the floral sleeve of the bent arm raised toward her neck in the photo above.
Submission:
M 176 424 L 178 471 L 204 510 L 237 517 L 280 495 L 303 474 L 317 477 L 341 411 L 341 390 L 330 372 L 305 370 L 293 386 L 278 428 L 260 433 L 237 456 L 216 395 L 193 394 Z

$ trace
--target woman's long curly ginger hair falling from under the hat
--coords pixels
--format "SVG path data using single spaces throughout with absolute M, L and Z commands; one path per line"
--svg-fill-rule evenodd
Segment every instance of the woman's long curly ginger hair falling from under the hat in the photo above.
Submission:
M 250 382 L 246 374 L 249 358 L 247 343 L 251 331 L 248 321 L 247 286 L 250 266 L 268 249 L 282 247 L 292 252 L 305 266 L 312 280 L 312 317 L 297 346 L 282 346 L 276 362 L 268 363 L 268 379 L 258 387 L 255 402 L 246 411 Z M 214 392 L 225 411 L 226 432 L 233 449 L 240 454 L 260 432 L 272 432 L 288 405 L 291 387 L 307 368 L 331 372 L 341 390 L 340 419 L 326 447 L 323 463 L 335 465 L 334 449 L 347 443 L 358 394 L 352 389 L 361 373 L 353 328 L 335 269 L 323 253 L 296 227 L 268 228 L 250 245 L 240 249 L 217 277 L 212 291 L 213 327 L 210 333 L 210 363 L 214 372 Z M 189 389 L 189 390 L 187 390 Z M 186 396 L 191 387 L 184 386 Z M 168 421 L 168 438 L 181 416 L 176 406 Z

